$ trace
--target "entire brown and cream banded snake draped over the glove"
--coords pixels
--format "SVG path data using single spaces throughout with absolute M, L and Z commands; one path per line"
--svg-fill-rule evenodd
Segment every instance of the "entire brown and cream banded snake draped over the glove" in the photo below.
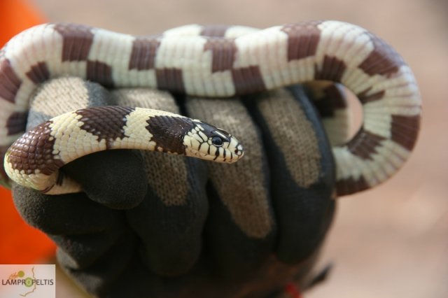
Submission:
M 193 24 L 154 36 L 41 24 L 0 50 L 3 184 L 13 180 L 48 194 L 79 191 L 59 169 L 96 150 L 143 146 L 216 162 L 244 155 L 239 141 L 223 129 L 141 108 L 86 108 L 25 133 L 31 95 L 61 76 L 111 88 L 220 98 L 313 81 L 340 83 L 360 102 L 363 123 L 349 141 L 332 147 L 338 195 L 370 189 L 398 171 L 421 122 L 421 97 L 410 67 L 391 45 L 355 24 L 319 20 L 260 30 Z

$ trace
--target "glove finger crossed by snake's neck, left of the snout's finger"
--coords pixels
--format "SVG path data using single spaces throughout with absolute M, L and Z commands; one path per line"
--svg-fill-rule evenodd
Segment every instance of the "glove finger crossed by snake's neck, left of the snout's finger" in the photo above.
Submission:
M 118 90 L 117 102 L 179 113 L 167 92 Z M 160 152 L 141 152 L 148 192 L 144 201 L 127 211 L 127 220 L 141 238 L 141 257 L 151 271 L 176 276 L 188 271 L 202 250 L 207 216 L 207 168 L 198 159 Z

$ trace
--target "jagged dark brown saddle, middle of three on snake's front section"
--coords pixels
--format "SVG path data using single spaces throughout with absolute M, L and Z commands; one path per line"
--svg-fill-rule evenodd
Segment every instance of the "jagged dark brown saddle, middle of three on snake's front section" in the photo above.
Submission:
M 123 127 L 126 124 L 126 116 L 132 111 L 134 108 L 101 106 L 76 111 L 76 114 L 82 116 L 79 119 L 83 122 L 80 128 L 98 136 L 98 141 L 106 140 L 106 148 L 109 149 L 113 141 L 125 138 Z

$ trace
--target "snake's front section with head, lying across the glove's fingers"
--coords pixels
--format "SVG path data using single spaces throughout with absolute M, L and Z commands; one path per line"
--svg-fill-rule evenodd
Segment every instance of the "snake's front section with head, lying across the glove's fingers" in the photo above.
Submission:
M 4 168 L 16 183 L 46 194 L 80 192 L 80 185 L 59 168 L 112 149 L 169 152 L 215 162 L 236 162 L 244 155 L 237 139 L 200 120 L 148 108 L 99 106 L 64 113 L 29 130 L 6 151 Z

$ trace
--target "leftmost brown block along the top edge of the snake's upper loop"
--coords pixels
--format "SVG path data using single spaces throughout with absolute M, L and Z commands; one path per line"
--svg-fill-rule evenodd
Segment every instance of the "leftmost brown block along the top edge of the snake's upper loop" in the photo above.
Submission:
M 85 61 L 92 48 L 92 28 L 79 24 L 55 24 L 55 31 L 61 34 L 62 61 Z

